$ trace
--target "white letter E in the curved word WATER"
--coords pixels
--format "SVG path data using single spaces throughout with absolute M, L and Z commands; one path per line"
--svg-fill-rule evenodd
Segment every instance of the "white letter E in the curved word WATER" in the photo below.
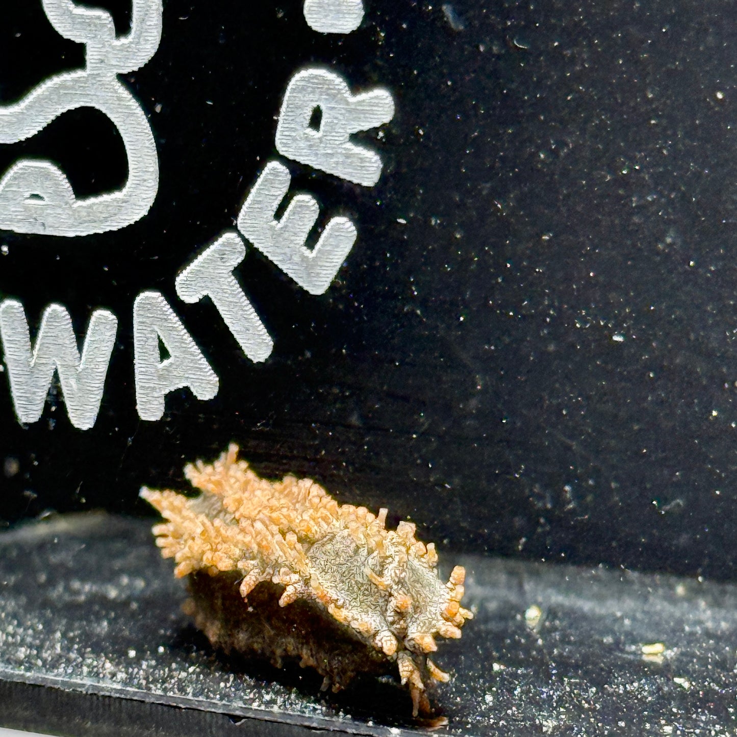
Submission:
M 291 181 L 287 167 L 270 161 L 242 206 L 238 229 L 310 294 L 323 294 L 353 248 L 356 228 L 347 217 L 333 217 L 315 248 L 305 248 L 320 214 L 315 198 L 296 195 L 282 219 L 274 220 Z

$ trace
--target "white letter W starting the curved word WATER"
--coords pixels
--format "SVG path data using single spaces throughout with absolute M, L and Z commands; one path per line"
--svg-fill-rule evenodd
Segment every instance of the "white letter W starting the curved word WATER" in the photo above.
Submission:
M 23 305 L 15 299 L 0 304 L 0 336 L 18 421 L 41 419 L 57 371 L 71 424 L 80 430 L 93 427 L 117 330 L 118 318 L 112 312 L 95 310 L 80 357 L 69 312 L 50 304 L 32 348 Z

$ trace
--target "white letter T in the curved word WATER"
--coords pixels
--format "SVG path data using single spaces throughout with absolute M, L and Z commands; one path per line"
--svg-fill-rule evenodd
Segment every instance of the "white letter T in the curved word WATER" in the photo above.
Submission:
M 273 340 L 233 273 L 243 259 L 240 235 L 224 233 L 179 274 L 177 294 L 189 304 L 208 296 L 243 352 L 258 363 L 270 356 Z

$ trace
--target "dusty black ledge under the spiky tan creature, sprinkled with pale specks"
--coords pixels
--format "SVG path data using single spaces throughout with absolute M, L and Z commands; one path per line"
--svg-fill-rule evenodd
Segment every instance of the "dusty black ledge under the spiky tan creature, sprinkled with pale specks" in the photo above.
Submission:
M 441 555 L 467 567 L 476 612 L 437 653 L 455 673 L 434 698 L 450 720 L 441 733 L 733 733 L 737 586 Z M 218 657 L 181 611 L 186 597 L 147 520 L 61 517 L 1 534 L 0 724 L 95 736 L 422 730 L 391 678 L 334 695 L 310 668 Z M 663 652 L 643 653 L 655 643 Z

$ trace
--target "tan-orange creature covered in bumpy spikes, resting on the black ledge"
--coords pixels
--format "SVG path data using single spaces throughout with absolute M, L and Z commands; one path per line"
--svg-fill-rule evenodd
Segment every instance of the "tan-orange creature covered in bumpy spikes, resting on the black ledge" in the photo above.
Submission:
M 339 505 L 308 478 L 286 476 L 273 482 L 259 478 L 245 461 L 237 460 L 237 453 L 237 446 L 231 445 L 214 464 L 197 461 L 184 469 L 186 478 L 201 490 L 198 497 L 146 488 L 141 492 L 167 520 L 153 533 L 161 554 L 175 559 L 175 575 L 189 576 L 195 598 L 187 610 L 198 626 L 214 646 L 226 651 L 250 649 L 269 656 L 271 648 L 276 664 L 282 655 L 301 657 L 301 664 L 317 668 L 334 690 L 347 685 L 355 675 L 349 671 L 361 670 L 363 663 L 367 670 L 377 660 L 396 663 L 402 685 L 412 696 L 413 715 L 420 710 L 429 713 L 427 685 L 430 680 L 446 682 L 449 676 L 427 654 L 437 649 L 437 635 L 460 638 L 461 626 L 472 618 L 460 606 L 464 568 L 456 566 L 450 581 L 442 583 L 435 545 L 415 539 L 415 525 L 400 522 L 396 531 L 388 530 L 386 509 L 374 515 L 365 507 Z M 244 616 L 254 608 L 249 594 L 262 584 L 262 595 L 254 592 L 251 597 L 254 602 L 262 601 L 263 592 L 271 589 L 279 607 L 288 609 L 296 601 L 316 607 L 334 620 L 330 626 L 350 628 L 345 634 L 359 649 L 366 646 L 366 652 L 358 653 L 352 666 L 346 665 L 351 659 L 346 660 L 344 653 L 331 666 L 314 643 L 269 643 L 263 634 L 273 631 L 268 623 L 245 646 L 231 647 L 225 641 L 228 624 L 223 624 L 223 614 L 212 613 L 218 607 L 212 601 L 198 604 L 204 589 L 200 587 L 198 598 L 192 582 L 196 587 L 198 580 L 208 579 L 201 578 L 203 573 L 230 581 L 231 589 L 237 587 L 245 600 L 238 606 Z M 212 598 L 212 589 L 208 591 Z M 217 617 L 220 621 L 213 623 Z M 310 628 L 315 629 L 314 624 Z M 290 625 L 290 632 L 295 629 Z M 234 638 L 232 632 L 228 638 Z M 326 638 L 331 643 L 337 639 Z

